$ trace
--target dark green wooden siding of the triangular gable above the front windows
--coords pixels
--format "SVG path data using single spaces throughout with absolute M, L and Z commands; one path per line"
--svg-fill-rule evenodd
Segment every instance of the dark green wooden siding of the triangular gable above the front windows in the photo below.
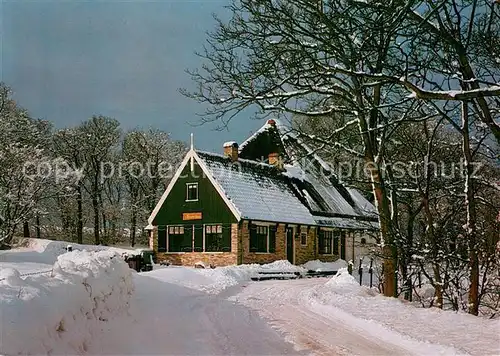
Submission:
M 198 183 L 198 201 L 186 201 L 186 183 Z M 201 220 L 182 220 L 183 213 L 200 212 Z M 231 210 L 219 195 L 210 180 L 204 176 L 198 164 L 194 165 L 194 174 L 188 162 L 167 199 L 158 211 L 154 225 L 185 225 L 185 224 L 231 224 L 237 222 Z M 199 246 L 198 242 L 195 244 Z

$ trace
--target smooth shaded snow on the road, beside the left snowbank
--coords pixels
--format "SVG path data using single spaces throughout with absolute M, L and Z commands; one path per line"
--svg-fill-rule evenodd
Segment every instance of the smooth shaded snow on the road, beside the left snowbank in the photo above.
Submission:
M 135 276 L 132 325 L 109 324 L 90 354 L 298 355 L 252 311 L 224 297 Z M 303 354 L 303 353 L 302 353 Z

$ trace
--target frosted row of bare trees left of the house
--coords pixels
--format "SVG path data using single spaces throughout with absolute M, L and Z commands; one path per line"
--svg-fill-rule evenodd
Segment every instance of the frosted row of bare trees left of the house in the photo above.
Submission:
M 144 243 L 147 218 L 186 146 L 95 115 L 71 128 L 30 117 L 0 84 L 0 245 L 16 236 Z

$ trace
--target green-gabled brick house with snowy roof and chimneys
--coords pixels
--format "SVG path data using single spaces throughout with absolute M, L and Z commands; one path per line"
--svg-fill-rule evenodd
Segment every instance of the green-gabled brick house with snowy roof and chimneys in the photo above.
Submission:
M 240 146 L 226 142 L 223 154 L 191 147 L 149 227 L 158 259 L 173 264 L 302 264 L 359 258 L 378 220 L 359 191 L 269 120 Z

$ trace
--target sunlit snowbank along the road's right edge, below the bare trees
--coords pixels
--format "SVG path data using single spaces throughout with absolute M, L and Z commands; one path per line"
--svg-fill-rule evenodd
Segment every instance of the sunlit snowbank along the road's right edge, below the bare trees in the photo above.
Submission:
M 402 345 L 411 346 L 408 338 L 434 344 L 422 346 L 421 354 L 500 354 L 500 320 L 421 308 L 387 298 L 376 288 L 360 286 L 346 269 L 339 270 L 325 284 L 304 291 L 303 298 L 318 314 L 342 317 L 367 335 L 382 338 L 392 330 L 402 335 L 399 340 Z M 451 352 L 450 346 L 455 351 Z

